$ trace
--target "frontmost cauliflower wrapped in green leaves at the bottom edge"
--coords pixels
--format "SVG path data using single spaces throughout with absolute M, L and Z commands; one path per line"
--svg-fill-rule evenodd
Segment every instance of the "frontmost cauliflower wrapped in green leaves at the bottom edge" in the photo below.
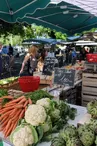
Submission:
M 13 131 L 10 141 L 14 146 L 28 146 L 38 141 L 38 135 L 34 127 L 22 125 Z

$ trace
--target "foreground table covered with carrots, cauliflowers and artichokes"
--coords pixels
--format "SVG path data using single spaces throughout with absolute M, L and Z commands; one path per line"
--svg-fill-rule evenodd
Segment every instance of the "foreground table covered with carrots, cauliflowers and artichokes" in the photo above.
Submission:
M 67 104 L 66 101 L 60 101 L 58 98 L 53 97 L 46 91 L 42 90 L 25 95 L 23 93 L 23 96 L 19 96 L 18 98 L 12 97 L 11 95 L 5 96 L 6 94 L 7 91 L 3 91 L 0 94 L 0 103 L 2 103 L 3 105 L 0 109 L 0 119 L 2 121 L 6 116 L 9 116 L 9 118 L 6 119 L 8 120 L 7 122 L 5 120 L 4 123 L 1 123 L 2 130 L 0 132 L 0 144 L 3 143 L 4 146 L 12 146 L 11 143 L 13 143 L 14 146 L 17 146 L 18 143 L 26 143 L 26 145 L 28 146 L 28 143 L 32 143 L 33 146 L 35 143 L 37 143 L 37 146 L 57 146 L 58 144 L 63 146 L 63 144 L 65 143 L 66 146 L 68 146 L 68 142 L 72 144 L 76 143 L 76 141 L 72 141 L 72 139 L 74 138 L 77 140 L 77 142 L 80 142 L 81 146 L 86 146 L 86 143 L 87 146 L 92 146 L 92 144 L 96 143 L 96 133 L 94 133 L 96 128 L 95 126 L 97 125 L 97 114 L 95 112 L 97 105 L 96 100 L 89 102 L 86 108 Z M 54 95 L 53 92 L 51 94 Z M 25 103 L 24 105 L 26 105 L 25 111 L 25 106 L 22 106 L 23 102 Z M 9 105 L 11 104 L 14 104 L 14 107 L 10 107 Z M 16 112 L 16 115 L 14 117 L 11 117 L 12 114 L 10 113 L 14 113 L 14 110 L 23 111 L 24 114 L 21 115 L 21 112 L 17 114 Z M 44 114 L 42 114 L 42 112 Z M 33 118 L 35 119 L 36 113 L 41 115 L 42 120 L 41 118 L 37 118 L 37 122 L 31 120 Z M 48 118 L 46 118 L 45 114 L 48 114 Z M 21 117 L 22 120 L 19 121 L 18 124 L 14 125 L 14 121 L 12 122 L 12 120 L 17 120 L 17 117 Z M 12 122 L 13 124 L 10 122 Z M 62 122 L 61 125 L 60 122 Z M 9 128 L 7 128 L 7 131 L 3 127 L 4 124 L 6 128 L 10 126 Z M 11 128 L 13 126 L 15 128 Z M 27 129 L 25 128 L 28 128 L 29 130 L 27 131 Z M 30 131 L 31 129 L 32 132 Z M 23 133 L 22 130 L 24 130 Z M 73 133 L 71 132 L 71 130 Z M 29 139 L 23 140 L 25 136 L 27 138 L 27 133 L 29 134 L 31 141 L 29 141 Z M 34 138 L 34 141 L 32 136 Z M 87 141 L 87 136 L 89 137 L 89 141 Z

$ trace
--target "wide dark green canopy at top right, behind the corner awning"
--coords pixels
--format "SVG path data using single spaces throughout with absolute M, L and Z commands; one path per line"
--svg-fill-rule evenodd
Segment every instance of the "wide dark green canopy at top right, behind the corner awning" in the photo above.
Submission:
M 65 0 L 60 3 L 50 3 L 46 8 L 37 9 L 33 14 L 27 14 L 18 21 L 36 23 L 69 35 L 97 27 L 96 16 Z

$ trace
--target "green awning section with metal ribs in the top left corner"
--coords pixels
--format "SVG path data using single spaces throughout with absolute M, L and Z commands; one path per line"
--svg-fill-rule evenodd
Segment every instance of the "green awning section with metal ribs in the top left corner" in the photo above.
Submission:
M 38 8 L 44 8 L 50 0 L 1 0 L 0 19 L 14 23 L 27 13 L 33 13 Z

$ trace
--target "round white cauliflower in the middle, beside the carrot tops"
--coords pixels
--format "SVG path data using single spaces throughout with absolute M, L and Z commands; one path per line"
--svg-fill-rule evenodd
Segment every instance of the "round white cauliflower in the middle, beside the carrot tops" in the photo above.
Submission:
M 46 111 L 41 105 L 30 105 L 25 112 L 25 121 L 32 126 L 38 126 L 45 122 Z

